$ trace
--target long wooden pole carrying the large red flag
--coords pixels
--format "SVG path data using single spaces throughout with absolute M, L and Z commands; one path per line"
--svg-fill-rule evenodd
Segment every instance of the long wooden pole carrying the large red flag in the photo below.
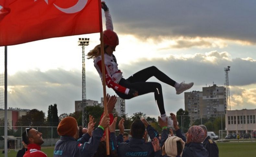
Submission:
M 106 74 L 105 74 L 105 60 L 104 60 L 103 32 L 100 32 L 100 50 L 101 50 L 102 85 L 103 85 L 103 97 L 104 97 L 104 113 L 109 114 L 108 108 L 107 108 L 107 96 L 106 96 Z M 106 128 L 105 132 L 106 132 L 107 155 L 110 155 L 110 152 L 109 152 L 109 128 Z

